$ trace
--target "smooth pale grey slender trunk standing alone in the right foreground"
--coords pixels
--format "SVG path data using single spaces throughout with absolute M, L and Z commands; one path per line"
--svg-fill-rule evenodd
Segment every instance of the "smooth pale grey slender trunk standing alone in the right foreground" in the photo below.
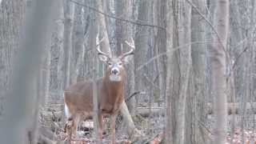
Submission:
M 214 111 L 214 143 L 226 143 L 226 42 L 229 30 L 229 0 L 218 0 L 215 15 L 217 34 L 210 49 Z

